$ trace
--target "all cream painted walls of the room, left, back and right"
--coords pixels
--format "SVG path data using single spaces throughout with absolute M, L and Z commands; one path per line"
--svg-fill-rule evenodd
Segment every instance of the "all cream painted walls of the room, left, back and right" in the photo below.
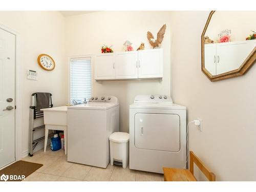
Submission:
M 55 106 L 68 100 L 67 55 L 99 53 L 103 44 L 121 51 L 126 39 L 134 42 L 134 48 L 145 42 L 149 49 L 147 30 L 156 35 L 166 24 L 162 43 L 163 81 L 95 81 L 94 94 L 119 98 L 121 131 L 128 131 L 128 108 L 135 95 L 169 94 L 172 88 L 174 102 L 187 106 L 188 121 L 203 119 L 203 132 L 193 125 L 189 127 L 189 149 L 216 174 L 217 180 L 256 180 L 256 69 L 252 66 L 241 77 L 217 82 L 210 82 L 201 72 L 201 34 L 208 14 L 200 11 L 96 12 L 66 17 L 64 28 L 65 21 L 58 12 L 0 12 L 0 23 L 19 32 L 22 41 L 23 151 L 28 149 L 31 93 L 52 92 Z M 41 23 L 47 27 L 42 28 Z M 66 55 L 63 54 L 65 47 Z M 56 61 L 52 72 L 41 70 L 37 65 L 38 54 L 44 52 Z M 27 69 L 38 72 L 37 81 L 26 79 Z

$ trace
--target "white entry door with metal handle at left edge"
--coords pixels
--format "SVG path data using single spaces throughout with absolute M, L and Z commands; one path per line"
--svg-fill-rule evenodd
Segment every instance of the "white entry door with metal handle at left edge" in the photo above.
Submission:
M 0 167 L 15 161 L 15 35 L 0 29 Z

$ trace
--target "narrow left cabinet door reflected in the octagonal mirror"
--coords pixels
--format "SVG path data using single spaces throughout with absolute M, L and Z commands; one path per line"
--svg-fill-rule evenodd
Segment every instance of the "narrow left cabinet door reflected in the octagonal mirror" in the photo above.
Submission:
M 216 59 L 216 44 L 204 45 L 204 68 L 211 75 L 216 75 Z

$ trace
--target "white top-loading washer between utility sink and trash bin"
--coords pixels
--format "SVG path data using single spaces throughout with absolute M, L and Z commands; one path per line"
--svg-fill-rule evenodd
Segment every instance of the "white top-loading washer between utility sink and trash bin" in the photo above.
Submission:
M 68 161 L 106 168 L 109 136 L 119 131 L 119 103 L 114 96 L 94 96 L 68 106 Z

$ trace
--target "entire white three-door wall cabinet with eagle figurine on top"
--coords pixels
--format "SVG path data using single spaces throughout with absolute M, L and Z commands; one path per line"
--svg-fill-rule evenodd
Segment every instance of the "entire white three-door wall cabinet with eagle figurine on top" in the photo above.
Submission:
M 163 50 L 151 49 L 95 56 L 95 80 L 163 77 Z

